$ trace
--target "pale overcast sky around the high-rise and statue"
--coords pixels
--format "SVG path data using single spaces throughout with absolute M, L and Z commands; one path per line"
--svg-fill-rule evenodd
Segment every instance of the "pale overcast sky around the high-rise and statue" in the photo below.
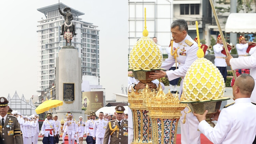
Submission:
M 128 1 L 127 0 L 60 0 L 85 15 L 83 21 L 99 26 L 100 84 L 106 96 L 121 93 L 127 86 L 128 68 Z M 2 1 L 0 97 L 11 98 L 15 91 L 26 99 L 37 95 L 37 11 L 57 0 Z

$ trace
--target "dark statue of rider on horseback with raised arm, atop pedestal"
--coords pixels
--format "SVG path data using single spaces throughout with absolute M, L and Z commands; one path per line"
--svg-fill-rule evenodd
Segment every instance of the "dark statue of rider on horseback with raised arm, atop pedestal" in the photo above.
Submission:
M 66 39 L 66 46 L 69 43 L 69 46 L 71 46 L 71 40 L 75 33 L 75 25 L 72 23 L 71 20 L 73 20 L 73 15 L 71 13 L 70 8 L 63 9 L 63 12 L 61 12 L 59 8 L 59 13 L 64 16 L 65 22 L 61 25 L 61 33 L 60 35 L 63 35 L 63 37 Z

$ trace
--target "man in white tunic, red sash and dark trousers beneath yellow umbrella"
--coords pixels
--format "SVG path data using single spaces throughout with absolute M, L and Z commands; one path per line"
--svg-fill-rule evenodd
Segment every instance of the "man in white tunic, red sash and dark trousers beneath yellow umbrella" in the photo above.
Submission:
M 57 135 L 55 121 L 51 120 L 52 114 L 46 114 L 46 120 L 43 122 L 41 133 L 43 136 L 43 144 L 54 144 L 54 135 Z

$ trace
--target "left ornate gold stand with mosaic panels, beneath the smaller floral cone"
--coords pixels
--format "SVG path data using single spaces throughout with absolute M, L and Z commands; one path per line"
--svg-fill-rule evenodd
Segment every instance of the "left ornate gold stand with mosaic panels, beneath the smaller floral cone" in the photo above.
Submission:
M 152 144 L 151 124 L 148 111 L 142 105 L 143 95 L 132 90 L 128 93 L 129 107 L 132 111 L 133 141 L 131 144 Z

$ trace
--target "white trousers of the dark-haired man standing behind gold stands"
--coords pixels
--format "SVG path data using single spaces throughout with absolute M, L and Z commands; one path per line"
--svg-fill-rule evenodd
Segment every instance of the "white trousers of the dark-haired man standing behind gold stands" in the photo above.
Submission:
M 188 111 L 188 108 L 185 108 L 185 112 Z M 198 131 L 199 121 L 193 113 L 188 113 L 186 115 L 186 123 L 183 124 L 183 119 L 185 113 L 181 111 L 182 116 L 180 118 L 181 124 L 181 143 L 182 144 L 200 144 L 200 131 Z

